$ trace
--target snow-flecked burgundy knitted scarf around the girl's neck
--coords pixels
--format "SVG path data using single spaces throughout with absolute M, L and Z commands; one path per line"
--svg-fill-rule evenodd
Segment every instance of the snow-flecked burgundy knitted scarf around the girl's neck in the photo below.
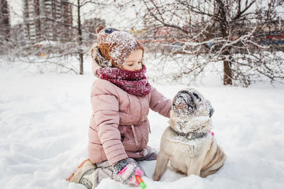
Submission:
M 117 68 L 97 69 L 100 79 L 111 81 L 124 91 L 136 96 L 146 96 L 151 91 L 151 85 L 146 79 L 146 66 L 143 64 L 140 71 L 127 71 Z

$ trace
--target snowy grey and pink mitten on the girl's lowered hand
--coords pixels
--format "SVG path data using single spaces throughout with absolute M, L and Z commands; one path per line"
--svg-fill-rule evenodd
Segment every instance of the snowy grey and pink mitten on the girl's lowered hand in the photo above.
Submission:
M 114 164 L 114 173 L 121 183 L 139 185 L 136 176 L 143 176 L 144 172 L 141 166 L 133 159 L 123 159 Z

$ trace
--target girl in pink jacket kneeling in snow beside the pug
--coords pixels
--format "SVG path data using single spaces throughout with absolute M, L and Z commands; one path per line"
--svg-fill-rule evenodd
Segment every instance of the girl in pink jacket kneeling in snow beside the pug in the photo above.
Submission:
M 149 108 L 167 118 L 171 101 L 145 76 L 144 47 L 133 35 L 114 28 L 97 28 L 98 45 L 91 49 L 92 70 L 99 79 L 91 91 L 89 159 L 68 181 L 95 188 L 103 178 L 138 185 L 145 175 L 137 161 L 157 154 L 147 146 Z

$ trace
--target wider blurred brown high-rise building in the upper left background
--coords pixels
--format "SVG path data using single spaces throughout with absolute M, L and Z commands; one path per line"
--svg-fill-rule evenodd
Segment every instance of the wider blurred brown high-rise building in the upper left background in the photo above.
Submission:
M 23 0 L 27 42 L 67 42 L 72 36 L 72 6 L 68 0 Z

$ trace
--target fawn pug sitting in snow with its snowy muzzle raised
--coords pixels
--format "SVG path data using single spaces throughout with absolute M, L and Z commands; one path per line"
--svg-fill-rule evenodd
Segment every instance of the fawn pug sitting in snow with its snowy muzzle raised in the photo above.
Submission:
M 211 132 L 214 109 L 194 88 L 179 91 L 173 98 L 170 127 L 160 140 L 154 181 L 160 181 L 168 161 L 177 172 L 209 176 L 224 164 L 226 154 Z

